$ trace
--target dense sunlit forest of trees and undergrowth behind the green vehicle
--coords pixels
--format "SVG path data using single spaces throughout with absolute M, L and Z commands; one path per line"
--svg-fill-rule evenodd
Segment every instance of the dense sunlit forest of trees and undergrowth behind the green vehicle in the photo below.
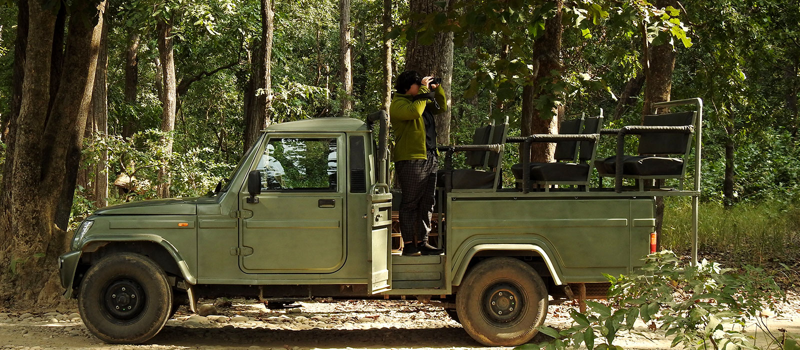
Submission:
M 508 117 L 511 136 L 557 133 L 603 109 L 611 128 L 702 97 L 701 249 L 797 268 L 797 2 L 0 4 L 2 303 L 55 300 L 54 257 L 94 209 L 205 195 L 265 125 L 363 120 L 407 69 L 444 78 L 442 145 L 470 143 L 492 119 Z M 506 153 L 506 186 L 519 157 Z M 665 207 L 662 248 L 685 251 L 690 202 Z

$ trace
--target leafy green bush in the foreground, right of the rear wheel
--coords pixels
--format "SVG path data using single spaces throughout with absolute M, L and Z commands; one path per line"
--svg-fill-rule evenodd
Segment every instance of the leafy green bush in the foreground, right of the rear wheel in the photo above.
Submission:
M 672 336 L 671 348 L 754 349 L 742 330 L 749 318 L 786 300 L 786 295 L 762 269 L 745 266 L 740 271 L 702 261 L 693 266 L 674 253 L 662 251 L 646 257 L 645 264 L 629 276 L 608 276 L 609 304 L 587 300 L 586 313 L 570 310 L 573 326 L 562 331 L 542 326 L 555 339 L 526 344 L 518 349 L 621 348 L 614 344 L 619 332 L 646 337 L 634 328 L 637 320 Z

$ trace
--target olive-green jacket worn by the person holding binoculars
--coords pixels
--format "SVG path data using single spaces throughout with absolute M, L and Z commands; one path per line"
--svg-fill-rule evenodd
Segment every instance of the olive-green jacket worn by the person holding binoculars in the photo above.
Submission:
M 419 87 L 419 93 L 428 93 L 425 86 Z M 412 102 L 414 97 L 402 93 L 395 93 L 389 107 L 389 117 L 394 134 L 393 161 L 408 161 L 411 159 L 427 159 L 425 153 L 425 121 L 422 112 L 425 111 L 427 100 Z M 434 114 L 447 110 L 445 90 L 442 86 L 436 87 L 436 102 L 439 109 L 432 109 Z

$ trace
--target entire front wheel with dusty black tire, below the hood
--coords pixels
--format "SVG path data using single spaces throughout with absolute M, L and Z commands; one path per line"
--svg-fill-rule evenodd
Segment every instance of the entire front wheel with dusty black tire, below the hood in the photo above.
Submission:
M 100 340 L 139 344 L 169 320 L 172 287 L 150 258 L 114 253 L 86 272 L 78 291 L 78 310 L 86 328 Z

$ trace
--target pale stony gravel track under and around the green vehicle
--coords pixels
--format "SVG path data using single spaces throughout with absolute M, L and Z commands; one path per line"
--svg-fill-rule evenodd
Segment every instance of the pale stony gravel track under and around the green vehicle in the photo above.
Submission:
M 174 319 L 147 344 L 102 343 L 83 325 L 75 312 L 0 313 L 0 349 L 226 349 L 262 348 L 306 350 L 311 348 L 447 348 L 481 349 L 461 325 L 438 306 L 401 300 L 347 300 L 303 302 L 298 308 L 270 310 L 254 300 L 202 300 L 199 316 L 181 308 Z M 213 304 L 212 304 L 213 303 Z M 571 304 L 551 305 L 546 324 L 570 326 Z M 800 335 L 800 296 L 790 294 L 790 303 L 765 312 L 773 332 L 785 328 Z M 755 322 L 753 322 L 754 324 Z M 639 330 L 645 331 L 645 324 Z M 764 333 L 755 325 L 747 328 L 756 336 Z M 548 337 L 538 335 L 534 342 Z M 622 335 L 623 348 L 669 348 L 669 340 L 656 333 L 651 340 Z

